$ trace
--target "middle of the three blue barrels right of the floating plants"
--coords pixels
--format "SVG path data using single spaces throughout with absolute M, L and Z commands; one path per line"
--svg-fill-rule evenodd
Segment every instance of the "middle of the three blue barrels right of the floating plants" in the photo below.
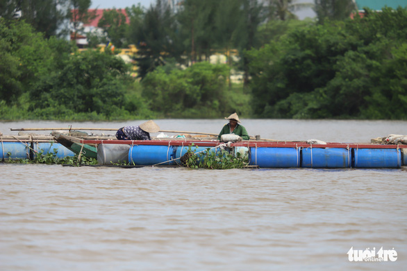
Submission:
M 346 148 L 304 148 L 303 168 L 350 168 L 351 150 Z

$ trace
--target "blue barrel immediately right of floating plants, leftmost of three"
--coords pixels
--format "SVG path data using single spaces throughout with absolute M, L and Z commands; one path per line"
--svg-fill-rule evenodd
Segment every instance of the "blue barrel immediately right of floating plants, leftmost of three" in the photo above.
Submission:
M 297 148 L 250 148 L 249 157 L 260 168 L 297 168 L 300 160 Z

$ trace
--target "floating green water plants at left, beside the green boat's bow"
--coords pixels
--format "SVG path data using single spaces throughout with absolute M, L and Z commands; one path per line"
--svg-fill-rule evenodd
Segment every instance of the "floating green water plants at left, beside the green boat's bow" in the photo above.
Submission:
M 97 159 L 88 158 L 83 155 L 67 156 L 63 158 L 57 157 L 58 149 L 54 148 L 53 152 L 44 154 L 44 150 L 35 152 L 33 159 L 5 159 L 8 164 L 67 164 L 69 166 L 88 166 L 97 165 Z M 7 156 L 11 157 L 11 153 L 7 152 Z

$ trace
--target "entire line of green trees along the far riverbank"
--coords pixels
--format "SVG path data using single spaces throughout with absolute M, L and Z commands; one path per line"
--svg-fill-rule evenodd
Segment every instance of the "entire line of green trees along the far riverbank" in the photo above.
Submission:
M 156 0 L 99 20 L 89 47 L 139 49 L 139 80 L 116 51 L 79 53 L 61 39 L 72 19 L 94 16 L 90 0 L 0 0 L 0 119 L 263 118 L 406 119 L 406 8 L 366 10 L 315 0 L 299 21 L 294 0 Z M 63 7 L 63 8 L 61 8 Z M 65 8 L 65 9 L 64 9 Z M 74 14 L 72 14 L 74 10 Z M 21 17 L 15 12 L 21 11 Z M 238 62 L 208 64 L 215 52 Z M 194 64 L 192 64 L 194 63 Z M 183 69 L 181 69 L 183 67 Z M 231 71 L 244 74 L 231 84 Z

